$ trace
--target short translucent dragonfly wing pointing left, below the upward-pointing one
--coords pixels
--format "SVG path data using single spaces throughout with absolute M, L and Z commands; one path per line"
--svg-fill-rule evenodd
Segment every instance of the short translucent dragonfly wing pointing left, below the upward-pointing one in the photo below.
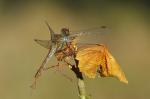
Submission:
M 51 41 L 50 40 L 35 39 L 35 42 L 47 49 L 51 49 Z

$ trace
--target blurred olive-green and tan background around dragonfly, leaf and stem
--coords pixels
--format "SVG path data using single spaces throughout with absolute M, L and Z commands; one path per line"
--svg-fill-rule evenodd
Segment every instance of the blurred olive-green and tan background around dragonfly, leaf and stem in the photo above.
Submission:
M 129 84 L 86 78 L 92 99 L 150 99 L 150 3 L 144 0 L 0 0 L 0 99 L 78 99 L 76 78 L 67 67 L 62 72 L 73 82 L 52 69 L 35 90 L 29 87 L 48 52 L 33 41 L 49 39 L 45 20 L 56 32 L 109 28 L 81 41 L 106 44 Z

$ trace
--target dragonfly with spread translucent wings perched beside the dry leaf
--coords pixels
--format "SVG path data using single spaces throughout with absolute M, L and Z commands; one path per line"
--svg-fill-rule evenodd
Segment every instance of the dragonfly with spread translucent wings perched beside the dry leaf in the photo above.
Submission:
M 85 29 L 82 31 L 74 31 L 70 32 L 69 29 L 67 28 L 62 28 L 61 33 L 57 34 L 53 31 L 53 29 L 50 27 L 48 22 L 45 22 L 50 33 L 50 39 L 49 40 L 39 40 L 35 39 L 35 42 L 37 42 L 39 45 L 49 49 L 49 52 L 47 56 L 45 57 L 44 61 L 42 62 L 41 66 L 37 70 L 35 74 L 35 78 L 38 78 L 41 75 L 41 72 L 44 70 L 45 65 L 47 62 L 51 59 L 51 57 L 57 53 L 61 52 L 63 49 L 66 49 L 70 47 L 70 43 L 72 43 L 76 38 L 86 35 L 86 34 L 92 34 L 93 32 L 102 32 L 104 31 L 107 27 L 106 26 L 101 26 L 101 27 L 95 27 L 91 29 Z M 93 31 L 93 32 L 92 32 Z M 74 51 L 71 51 L 74 52 Z M 68 54 L 66 52 L 66 54 Z M 71 56 L 74 54 L 69 54 L 68 56 Z

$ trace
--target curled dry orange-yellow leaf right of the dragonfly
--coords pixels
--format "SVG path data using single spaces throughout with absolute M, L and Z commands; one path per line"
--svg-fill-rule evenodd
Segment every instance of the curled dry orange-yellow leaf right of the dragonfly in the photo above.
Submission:
M 77 50 L 76 59 L 80 71 L 89 78 L 95 78 L 98 72 L 101 77 L 116 77 L 121 82 L 128 83 L 119 64 L 104 45 L 81 46 Z

